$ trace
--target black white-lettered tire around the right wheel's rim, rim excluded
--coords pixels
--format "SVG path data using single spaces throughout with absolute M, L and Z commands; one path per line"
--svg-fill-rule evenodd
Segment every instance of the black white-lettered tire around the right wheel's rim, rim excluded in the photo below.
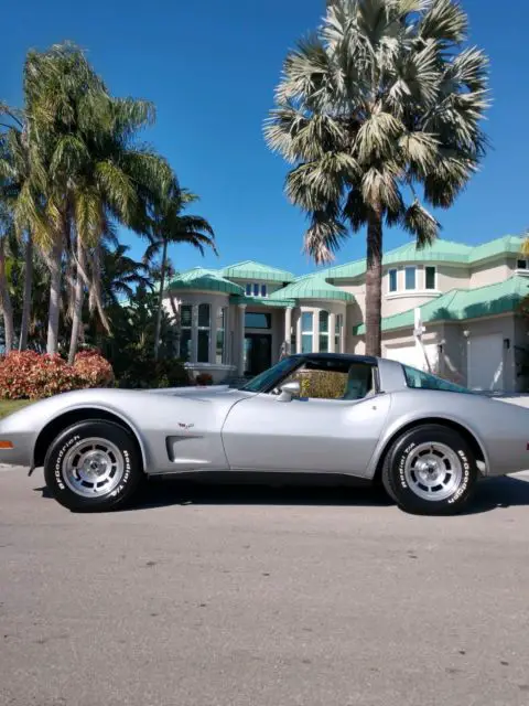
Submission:
M 461 483 L 453 494 L 444 500 L 429 501 L 420 498 L 406 478 L 408 459 L 418 446 L 425 442 L 444 443 L 454 451 L 461 462 Z M 389 464 L 391 486 L 399 504 L 404 510 L 427 514 L 450 514 L 461 510 L 468 501 L 477 478 L 476 461 L 465 439 L 456 431 L 441 427 L 412 429 L 403 435 L 391 449 Z

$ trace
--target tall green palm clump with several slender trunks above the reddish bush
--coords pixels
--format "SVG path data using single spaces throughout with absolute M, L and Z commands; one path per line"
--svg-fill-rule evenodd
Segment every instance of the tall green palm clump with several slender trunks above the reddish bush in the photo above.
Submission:
M 83 52 L 71 44 L 30 52 L 25 68 L 28 113 L 48 167 L 47 253 L 51 270 L 47 350 L 58 340 L 62 260 L 75 261 L 69 360 L 82 324 L 85 289 L 108 329 L 100 301 L 99 242 L 112 220 L 143 225 L 145 194 L 155 197 L 170 183 L 164 159 L 137 140 L 154 119 L 152 104 L 112 98 Z M 91 284 L 88 281 L 91 254 Z

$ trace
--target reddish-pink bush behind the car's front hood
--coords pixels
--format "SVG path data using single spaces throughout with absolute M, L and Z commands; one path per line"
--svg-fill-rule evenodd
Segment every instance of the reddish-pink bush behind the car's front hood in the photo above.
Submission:
M 58 393 L 114 384 L 110 363 L 95 351 L 83 351 L 68 365 L 60 355 L 12 351 L 0 357 L 0 398 L 40 399 Z

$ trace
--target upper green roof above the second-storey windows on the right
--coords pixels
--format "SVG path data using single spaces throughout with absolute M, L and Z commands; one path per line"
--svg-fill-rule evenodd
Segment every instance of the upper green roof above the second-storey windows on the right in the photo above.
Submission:
M 401 263 L 456 263 L 460 265 L 475 265 L 482 260 L 501 255 L 519 255 L 523 238 L 517 235 L 506 235 L 483 245 L 465 245 L 454 240 L 438 238 L 432 245 L 418 248 L 415 243 L 406 243 L 382 256 L 382 265 L 399 265 Z M 366 259 L 354 260 L 325 270 L 326 279 L 354 279 L 366 271 Z

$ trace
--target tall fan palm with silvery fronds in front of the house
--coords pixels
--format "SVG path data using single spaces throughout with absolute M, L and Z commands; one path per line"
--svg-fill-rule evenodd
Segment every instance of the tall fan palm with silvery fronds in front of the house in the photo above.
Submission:
M 304 248 L 333 258 L 367 225 L 366 351 L 380 355 L 382 226 L 418 246 L 477 170 L 486 138 L 487 57 L 463 49 L 454 0 L 328 0 L 317 32 L 291 51 L 264 127 L 293 169 L 290 200 L 309 214 Z

